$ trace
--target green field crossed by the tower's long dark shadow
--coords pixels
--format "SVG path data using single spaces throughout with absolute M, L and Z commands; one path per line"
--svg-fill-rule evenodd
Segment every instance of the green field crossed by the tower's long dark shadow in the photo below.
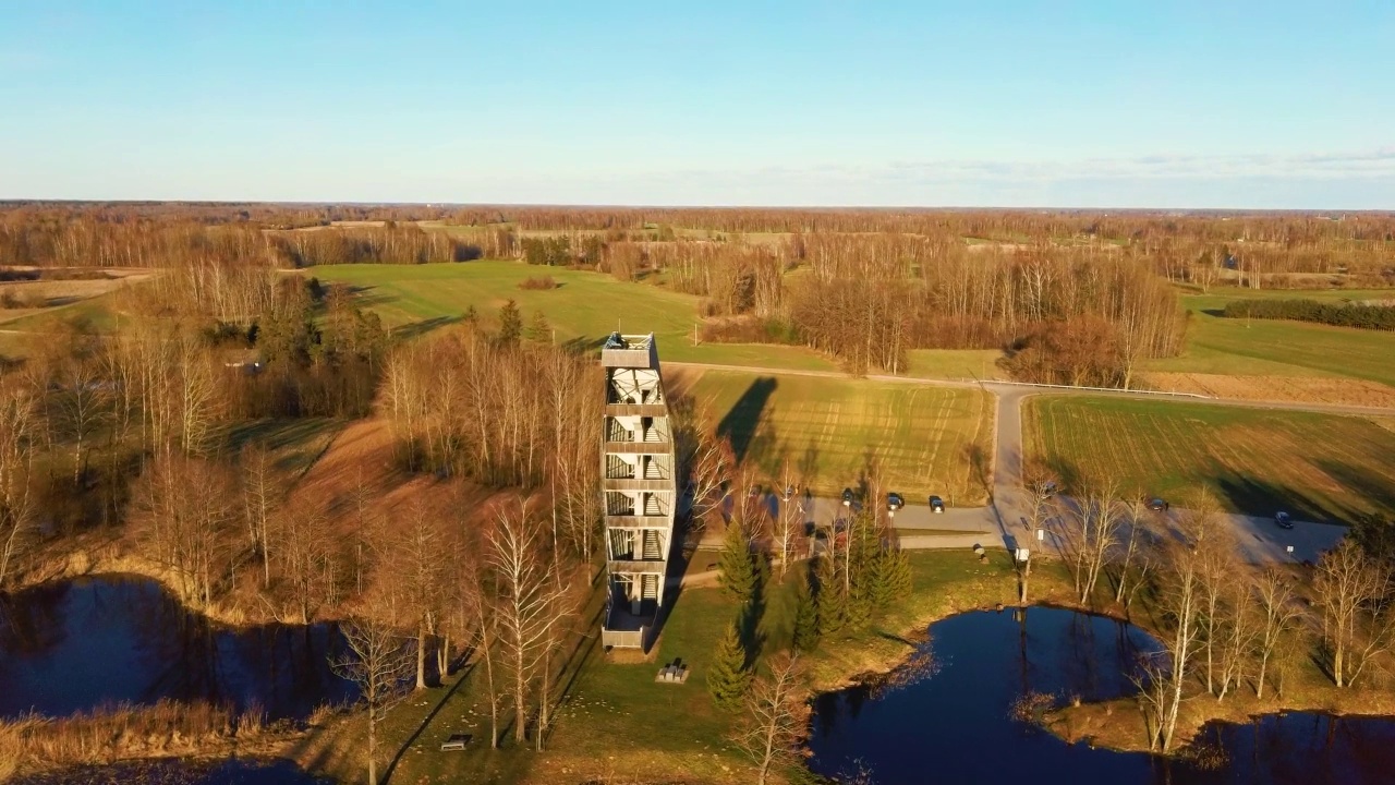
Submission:
M 889 489 L 911 497 L 986 501 L 970 451 L 992 461 L 993 402 L 978 390 L 709 370 L 689 394 L 771 482 L 788 461 L 804 485 L 833 494 L 877 464 Z

